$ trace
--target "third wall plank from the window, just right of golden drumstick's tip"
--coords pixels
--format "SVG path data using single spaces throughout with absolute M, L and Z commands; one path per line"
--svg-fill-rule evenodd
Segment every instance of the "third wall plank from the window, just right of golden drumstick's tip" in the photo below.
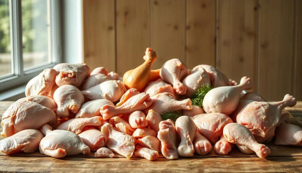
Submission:
M 150 1 L 150 46 L 157 53 L 153 69 L 169 59 L 185 62 L 185 0 Z

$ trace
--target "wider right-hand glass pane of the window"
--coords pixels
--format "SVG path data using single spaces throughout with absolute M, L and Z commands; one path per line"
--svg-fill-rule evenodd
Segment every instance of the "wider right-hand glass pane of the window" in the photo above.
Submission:
M 23 68 L 46 65 L 50 57 L 50 23 L 47 0 L 22 0 Z

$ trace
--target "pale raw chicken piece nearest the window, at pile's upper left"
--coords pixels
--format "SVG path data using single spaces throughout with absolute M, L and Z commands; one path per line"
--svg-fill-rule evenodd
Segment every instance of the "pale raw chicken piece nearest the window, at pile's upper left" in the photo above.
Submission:
M 52 68 L 43 70 L 39 75 L 32 78 L 26 85 L 25 95 L 44 95 L 53 98 L 52 88 L 56 84 L 57 71 Z

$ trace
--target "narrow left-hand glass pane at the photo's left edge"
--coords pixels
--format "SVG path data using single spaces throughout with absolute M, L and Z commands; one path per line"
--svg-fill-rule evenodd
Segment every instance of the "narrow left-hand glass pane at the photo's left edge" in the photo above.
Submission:
M 12 73 L 9 0 L 0 0 L 0 77 Z

